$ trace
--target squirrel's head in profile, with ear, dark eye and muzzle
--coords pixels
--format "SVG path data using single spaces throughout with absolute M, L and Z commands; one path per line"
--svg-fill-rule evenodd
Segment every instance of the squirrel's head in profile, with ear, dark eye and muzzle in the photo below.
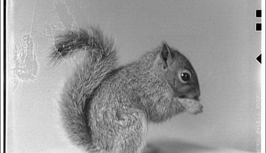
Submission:
M 171 97 L 198 100 L 200 95 L 198 78 L 189 60 L 177 50 L 162 43 L 153 68 L 172 88 Z

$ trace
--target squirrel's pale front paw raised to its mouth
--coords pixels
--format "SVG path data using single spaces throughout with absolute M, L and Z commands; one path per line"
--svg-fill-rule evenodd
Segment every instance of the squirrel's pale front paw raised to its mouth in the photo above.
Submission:
M 203 105 L 200 104 L 198 100 L 184 98 L 179 99 L 178 101 L 184 108 L 186 108 L 186 110 L 190 114 L 197 114 L 202 112 Z

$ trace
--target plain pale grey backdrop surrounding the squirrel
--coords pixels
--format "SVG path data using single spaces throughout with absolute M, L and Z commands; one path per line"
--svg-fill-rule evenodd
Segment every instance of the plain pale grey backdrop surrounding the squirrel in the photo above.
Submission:
M 47 70 L 45 57 L 55 32 L 86 24 L 100 25 L 114 38 L 120 64 L 166 40 L 194 66 L 204 112 L 149 125 L 152 146 L 168 152 L 255 152 L 260 147 L 259 8 L 259 0 L 7 1 L 7 152 L 75 152 L 60 129 L 56 103 L 71 64 Z M 33 48 L 25 49 L 26 34 Z M 22 57 L 35 53 L 22 60 L 37 62 L 35 79 L 14 75 L 15 46 L 28 51 Z

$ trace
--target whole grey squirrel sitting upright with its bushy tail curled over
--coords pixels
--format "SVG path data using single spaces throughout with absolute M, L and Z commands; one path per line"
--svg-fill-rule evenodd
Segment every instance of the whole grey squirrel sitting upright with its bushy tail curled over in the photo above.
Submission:
M 49 64 L 79 51 L 84 57 L 65 82 L 59 113 L 68 138 L 85 151 L 140 153 L 148 122 L 202 112 L 195 70 L 165 41 L 118 67 L 114 41 L 99 27 L 79 28 L 55 37 Z

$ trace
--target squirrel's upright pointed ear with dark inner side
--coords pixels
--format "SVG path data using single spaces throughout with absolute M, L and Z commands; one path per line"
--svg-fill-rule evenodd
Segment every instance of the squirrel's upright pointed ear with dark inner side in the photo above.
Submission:
M 169 63 L 172 60 L 173 53 L 166 42 L 162 43 L 162 48 L 160 51 L 160 58 L 163 61 L 163 65 L 162 65 L 163 69 L 167 68 L 168 66 L 167 63 Z

